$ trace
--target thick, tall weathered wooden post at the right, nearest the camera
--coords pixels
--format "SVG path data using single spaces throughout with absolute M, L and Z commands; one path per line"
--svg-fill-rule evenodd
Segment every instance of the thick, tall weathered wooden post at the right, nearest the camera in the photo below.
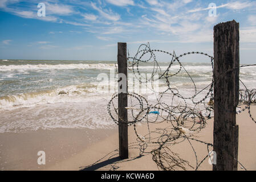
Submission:
M 237 170 L 239 100 L 239 23 L 214 26 L 214 171 Z

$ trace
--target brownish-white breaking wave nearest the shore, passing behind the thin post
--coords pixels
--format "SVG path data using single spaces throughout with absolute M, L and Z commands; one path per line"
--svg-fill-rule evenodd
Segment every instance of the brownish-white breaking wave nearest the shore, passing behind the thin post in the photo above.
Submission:
M 151 94 L 151 85 L 135 87 L 128 85 L 128 92 L 139 92 L 141 94 Z M 91 97 L 110 98 L 117 92 L 118 84 L 115 81 L 90 82 L 86 84 L 64 86 L 51 90 L 40 90 L 37 92 L 27 92 L 21 94 L 7 95 L 0 97 L 0 110 L 13 110 L 21 107 L 33 107 L 41 104 L 82 102 L 90 100 Z M 165 85 L 159 87 L 159 92 L 165 90 Z

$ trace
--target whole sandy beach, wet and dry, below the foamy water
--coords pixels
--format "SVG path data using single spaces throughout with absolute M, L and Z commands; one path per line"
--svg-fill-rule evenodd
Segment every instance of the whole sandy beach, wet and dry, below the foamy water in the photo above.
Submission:
M 256 118 L 256 106 L 251 106 Z M 207 125 L 194 138 L 213 142 L 213 119 L 206 120 Z M 238 160 L 247 170 L 256 170 L 256 123 L 251 121 L 246 111 L 237 115 L 239 125 Z M 150 125 L 151 137 L 157 137 L 170 123 Z M 147 125 L 137 126 L 141 135 L 148 133 Z M 118 131 L 90 129 L 54 129 L 39 130 L 30 133 L 0 134 L 0 169 L 2 170 L 158 170 L 150 153 L 140 156 L 141 142 L 129 126 L 129 159 L 120 160 L 118 152 Z M 90 142 L 91 141 L 91 142 Z M 205 144 L 190 140 L 196 151 L 198 161 L 208 154 Z M 148 146 L 146 152 L 156 146 Z M 169 148 L 180 154 L 182 159 L 196 166 L 196 158 L 188 140 L 184 140 Z M 212 148 L 210 148 L 211 150 Z M 46 152 L 46 165 L 37 164 L 37 152 Z M 188 167 L 188 170 L 193 168 Z M 208 159 L 201 164 L 199 170 L 212 170 Z M 239 170 L 243 170 L 238 165 Z

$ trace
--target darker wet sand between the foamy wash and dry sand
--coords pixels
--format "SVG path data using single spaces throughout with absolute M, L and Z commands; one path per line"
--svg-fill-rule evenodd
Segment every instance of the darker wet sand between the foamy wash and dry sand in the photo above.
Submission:
M 52 129 L 0 133 L 0 170 L 44 170 L 108 137 L 116 129 Z M 38 165 L 38 151 L 46 165 Z

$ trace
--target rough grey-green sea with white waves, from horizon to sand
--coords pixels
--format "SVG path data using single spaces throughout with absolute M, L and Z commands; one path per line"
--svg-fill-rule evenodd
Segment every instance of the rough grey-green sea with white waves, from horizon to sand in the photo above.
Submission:
M 151 82 L 139 86 L 137 77 L 141 82 L 151 80 L 152 73 L 161 77 L 169 64 L 143 63 L 133 69 L 128 64 L 128 92 L 153 100 L 155 93 L 168 89 L 166 79 L 155 79 L 152 90 Z M 200 100 L 210 88 L 212 64 L 182 63 L 178 72 L 180 68 L 179 64 L 169 68 L 168 74 L 174 75 L 168 78 L 169 86 L 182 98 L 196 94 Z M 255 88 L 255 66 L 241 68 L 239 76 L 247 89 Z M 116 127 L 107 105 L 117 92 L 117 79 L 117 61 L 0 60 L 0 133 Z

